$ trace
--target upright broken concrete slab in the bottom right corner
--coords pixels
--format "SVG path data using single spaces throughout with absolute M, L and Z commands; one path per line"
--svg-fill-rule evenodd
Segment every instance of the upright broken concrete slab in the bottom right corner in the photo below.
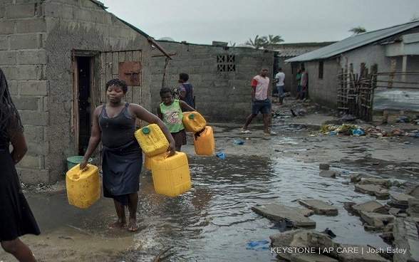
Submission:
M 393 237 L 393 261 L 419 261 L 419 234 L 414 219 L 396 218 Z

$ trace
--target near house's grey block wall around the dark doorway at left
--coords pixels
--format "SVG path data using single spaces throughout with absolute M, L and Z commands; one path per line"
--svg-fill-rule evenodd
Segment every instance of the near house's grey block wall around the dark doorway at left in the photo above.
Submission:
M 141 100 L 145 108 L 150 108 L 151 47 L 145 36 L 93 1 L 14 2 L 0 4 L 0 10 L 5 10 L 0 12 L 0 66 L 29 144 L 17 168 L 22 182 L 53 183 L 65 179 L 66 159 L 75 154 L 71 130 L 72 50 L 142 49 L 145 97 Z

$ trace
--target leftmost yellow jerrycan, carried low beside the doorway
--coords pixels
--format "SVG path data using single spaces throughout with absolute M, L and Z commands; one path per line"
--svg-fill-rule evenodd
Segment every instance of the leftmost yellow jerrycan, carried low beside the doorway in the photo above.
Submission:
M 93 164 L 86 171 L 76 164 L 66 173 L 68 204 L 86 209 L 100 198 L 99 169 Z

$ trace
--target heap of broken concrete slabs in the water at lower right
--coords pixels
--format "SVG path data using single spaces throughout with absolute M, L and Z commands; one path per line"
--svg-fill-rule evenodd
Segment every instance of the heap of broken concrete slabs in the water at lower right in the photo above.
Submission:
M 329 170 L 322 170 L 329 171 Z M 390 197 L 386 205 L 376 200 L 360 204 L 343 202 L 349 212 L 356 214 L 364 222 L 366 231 L 379 231 L 383 241 L 390 244 L 388 248 L 358 246 L 356 244 L 334 243 L 334 234 L 314 229 L 301 229 L 301 211 L 294 207 L 281 204 L 261 204 L 252 208 L 255 212 L 269 219 L 286 218 L 293 221 L 296 229 L 269 236 L 271 251 L 276 253 L 280 261 L 295 262 L 410 262 L 419 261 L 419 187 L 406 190 L 406 194 L 390 196 L 388 188 L 392 183 L 388 179 L 359 179 L 359 175 L 351 176 L 356 184 L 356 191 L 377 196 Z M 386 187 L 387 189 L 383 189 Z M 385 194 L 386 193 L 386 194 Z M 338 209 L 318 199 L 298 199 L 299 204 L 314 214 L 337 215 Z M 308 213 L 307 213 L 308 214 Z M 311 215 L 311 214 L 308 214 Z M 311 223 L 313 225 L 313 223 Z M 315 226 L 315 222 L 314 222 Z

